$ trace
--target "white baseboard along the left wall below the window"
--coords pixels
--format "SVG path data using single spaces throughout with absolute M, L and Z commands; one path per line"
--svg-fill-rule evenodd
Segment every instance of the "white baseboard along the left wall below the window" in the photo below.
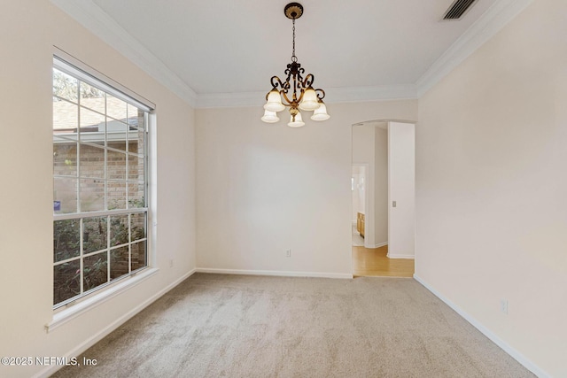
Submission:
M 100 340 L 105 338 L 105 336 L 108 336 L 111 332 L 113 332 L 113 330 L 115 330 L 116 328 L 119 328 L 122 324 L 126 323 L 130 318 L 134 317 L 134 315 L 136 315 L 136 313 L 141 312 L 142 310 L 144 310 L 145 307 L 151 305 L 153 302 L 158 300 L 159 297 L 162 297 L 164 294 L 167 293 L 167 291 L 174 289 L 175 286 L 177 286 L 178 284 L 183 282 L 183 280 L 190 277 L 196 271 L 197 271 L 196 269 L 193 269 L 189 273 L 183 274 L 183 276 L 178 278 L 177 280 L 175 280 L 175 282 L 172 282 L 169 285 L 167 285 L 166 288 L 159 290 L 159 292 L 157 292 L 153 296 L 146 299 L 140 305 L 136 305 L 136 307 L 134 307 L 130 311 L 126 312 L 124 315 L 120 316 L 120 318 L 118 318 L 117 320 L 114 320 L 108 326 L 101 329 L 99 332 L 97 332 L 97 334 L 89 337 L 89 339 L 85 340 L 83 343 L 74 347 L 71 351 L 69 351 L 65 354 L 65 357 L 67 358 L 67 360 L 71 359 L 72 357 L 79 356 L 83 351 L 88 350 L 95 343 L 98 343 Z M 35 374 L 34 377 L 35 378 L 40 378 L 40 377 L 41 378 L 43 378 L 43 377 L 47 378 L 51 374 L 54 374 L 56 371 L 58 371 L 61 367 L 63 367 L 63 366 L 60 366 L 60 365 L 59 366 L 58 365 L 49 366 L 49 367 L 43 369 L 38 374 Z

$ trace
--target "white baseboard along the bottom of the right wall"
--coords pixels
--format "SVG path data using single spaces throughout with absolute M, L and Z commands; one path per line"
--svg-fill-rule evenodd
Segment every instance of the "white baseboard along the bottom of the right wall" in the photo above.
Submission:
M 438 297 L 440 300 L 445 302 L 445 304 L 451 307 L 454 310 L 454 312 L 457 312 L 459 315 L 461 315 L 462 318 L 464 318 L 464 320 L 467 320 L 474 328 L 477 328 L 486 337 L 492 340 L 493 343 L 501 347 L 503 351 L 506 351 L 513 359 L 516 359 L 517 362 L 522 364 L 526 369 L 530 370 L 533 374 L 536 374 L 540 378 L 551 377 L 551 375 L 547 374 L 543 369 L 540 368 L 540 366 L 535 365 L 530 359 L 527 359 L 522 353 L 512 348 L 509 345 L 509 343 L 506 343 L 499 336 L 496 336 L 496 334 L 494 334 L 490 329 L 485 328 L 485 326 L 482 323 L 480 323 L 478 320 L 470 316 L 469 313 L 462 310 L 461 307 L 455 305 L 453 302 L 448 300 L 447 297 L 441 295 L 439 291 L 433 289 L 427 282 L 424 282 L 421 278 L 419 278 L 418 275 L 414 274 L 414 279 L 416 279 L 417 282 L 421 283 L 425 289 L 431 291 L 431 293 L 435 297 Z

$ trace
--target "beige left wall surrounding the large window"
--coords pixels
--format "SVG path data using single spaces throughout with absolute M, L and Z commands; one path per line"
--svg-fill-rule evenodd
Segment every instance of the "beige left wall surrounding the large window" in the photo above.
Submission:
M 47 0 L 3 2 L 0 31 L 0 356 L 62 357 L 88 346 L 195 267 L 194 113 Z M 46 334 L 53 314 L 53 45 L 157 104 L 159 273 Z M 0 375 L 41 370 L 0 366 Z

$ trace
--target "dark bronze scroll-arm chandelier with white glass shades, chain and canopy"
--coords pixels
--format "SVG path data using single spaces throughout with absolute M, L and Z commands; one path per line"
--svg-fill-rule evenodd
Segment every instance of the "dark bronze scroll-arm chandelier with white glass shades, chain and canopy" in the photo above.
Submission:
M 274 123 L 280 120 L 277 112 L 282 112 L 286 106 L 290 108 L 291 120 L 287 125 L 290 127 L 301 127 L 305 125 L 301 118 L 301 112 L 313 112 L 311 120 L 329 120 L 327 107 L 322 102 L 325 91 L 313 89 L 314 75 L 307 73 L 305 78 L 305 68 L 301 68 L 298 58 L 295 56 L 295 20 L 303 14 L 303 6 L 299 3 L 285 5 L 283 10 L 285 16 L 293 22 L 293 52 L 291 63 L 287 65 L 285 74 L 287 78 L 284 82 L 277 76 L 272 76 L 272 89 L 266 95 L 264 105 L 264 122 Z

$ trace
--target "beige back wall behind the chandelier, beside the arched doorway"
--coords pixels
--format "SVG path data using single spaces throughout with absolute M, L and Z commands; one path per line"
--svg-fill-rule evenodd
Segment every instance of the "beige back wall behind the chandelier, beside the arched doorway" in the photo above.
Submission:
M 198 110 L 198 267 L 351 276 L 352 125 L 415 120 L 416 104 L 329 104 L 298 129 L 260 107 Z

